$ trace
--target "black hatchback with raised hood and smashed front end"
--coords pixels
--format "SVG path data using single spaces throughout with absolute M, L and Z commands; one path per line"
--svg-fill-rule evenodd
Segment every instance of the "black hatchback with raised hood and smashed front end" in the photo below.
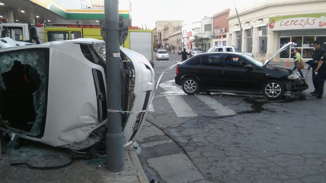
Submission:
M 298 72 L 268 65 L 290 45 L 296 44 L 288 43 L 264 63 L 239 52 L 203 53 L 177 64 L 175 83 L 188 95 L 219 89 L 262 92 L 266 98 L 277 100 L 285 92 L 302 92 L 308 85 Z

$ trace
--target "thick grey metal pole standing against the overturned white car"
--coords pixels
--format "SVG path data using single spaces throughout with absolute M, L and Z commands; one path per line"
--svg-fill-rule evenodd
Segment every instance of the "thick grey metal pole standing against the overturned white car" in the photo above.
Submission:
M 105 0 L 106 84 L 108 109 L 121 110 L 119 0 Z M 120 112 L 108 112 L 106 166 L 111 172 L 125 168 L 124 135 Z

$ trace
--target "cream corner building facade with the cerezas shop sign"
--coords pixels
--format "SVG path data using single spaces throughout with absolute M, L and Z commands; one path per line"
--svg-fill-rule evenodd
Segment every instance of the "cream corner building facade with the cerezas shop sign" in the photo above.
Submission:
M 281 52 L 275 60 L 293 58 L 296 47 L 303 59 L 311 59 L 313 41 L 319 40 L 324 47 L 326 45 L 325 5 L 325 0 L 269 0 L 240 11 L 243 28 L 241 45 L 238 18 L 235 12 L 230 13 L 229 41 L 242 52 L 254 53 L 258 59 L 267 59 L 284 44 L 295 42 L 297 46 Z

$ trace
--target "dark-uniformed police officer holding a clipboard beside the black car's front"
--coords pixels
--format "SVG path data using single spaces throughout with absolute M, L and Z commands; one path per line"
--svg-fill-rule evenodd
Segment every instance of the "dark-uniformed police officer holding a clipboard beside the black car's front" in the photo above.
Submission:
M 314 65 L 312 66 L 312 83 L 314 84 L 315 91 L 310 92 L 310 94 L 313 94 L 313 96 L 318 96 L 318 84 L 317 84 L 317 78 L 315 75 L 315 70 L 317 69 L 317 65 L 320 61 L 320 58 L 324 55 L 325 50 L 320 46 L 319 41 L 314 41 L 313 45 L 315 47 L 314 53 L 312 55 L 312 60 L 314 61 Z M 311 66 L 308 67 L 308 71 L 310 70 Z

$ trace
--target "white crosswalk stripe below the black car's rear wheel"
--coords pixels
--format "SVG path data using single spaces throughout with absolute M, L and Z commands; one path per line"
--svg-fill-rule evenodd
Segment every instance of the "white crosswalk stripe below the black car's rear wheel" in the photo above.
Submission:
M 178 117 L 198 116 L 181 96 L 168 95 L 165 97 L 168 99 L 173 111 L 177 114 Z

